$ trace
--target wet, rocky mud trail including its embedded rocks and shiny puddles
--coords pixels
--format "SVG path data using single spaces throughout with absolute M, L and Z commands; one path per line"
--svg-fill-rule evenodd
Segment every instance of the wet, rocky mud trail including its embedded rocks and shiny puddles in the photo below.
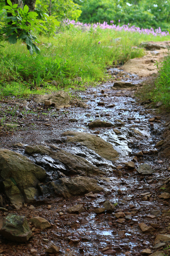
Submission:
M 168 114 L 135 96 L 166 46 L 151 42 L 143 58 L 108 69 L 107 83 L 70 90 L 71 104 L 66 93 L 60 107 L 47 96 L 1 101 L 0 216 L 25 216 L 32 235 L 9 241 L 0 221 L 0 256 L 168 255 Z

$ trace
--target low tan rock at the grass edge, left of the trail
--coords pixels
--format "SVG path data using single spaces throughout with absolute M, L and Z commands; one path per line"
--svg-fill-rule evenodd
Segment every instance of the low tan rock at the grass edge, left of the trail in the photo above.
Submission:
M 70 96 L 67 92 L 58 91 L 53 94 L 37 95 L 34 101 L 37 103 L 44 103 L 44 101 L 51 101 L 55 103 L 58 108 L 70 107 Z

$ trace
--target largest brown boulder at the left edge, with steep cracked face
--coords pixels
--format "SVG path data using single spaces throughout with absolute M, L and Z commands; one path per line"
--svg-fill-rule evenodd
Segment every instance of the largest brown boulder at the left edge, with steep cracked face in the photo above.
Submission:
M 18 209 L 24 201 L 35 201 L 39 195 L 37 184 L 46 177 L 45 170 L 26 156 L 8 149 L 0 149 L 0 162 L 4 191 L 14 207 Z

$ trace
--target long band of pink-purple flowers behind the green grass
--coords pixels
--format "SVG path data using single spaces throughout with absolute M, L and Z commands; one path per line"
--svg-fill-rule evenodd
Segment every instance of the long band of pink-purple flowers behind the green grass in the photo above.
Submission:
M 111 21 L 111 24 L 109 25 L 107 22 L 103 22 L 103 23 L 94 23 L 94 24 L 83 24 L 79 21 L 75 21 L 75 20 L 65 20 L 64 23 L 66 25 L 69 25 L 69 24 L 73 24 L 73 25 L 77 25 L 77 26 L 86 26 L 86 27 L 93 27 L 93 28 L 101 28 L 101 29 L 114 29 L 114 30 L 118 30 L 118 31 L 121 31 L 121 30 L 124 30 L 124 31 L 129 31 L 129 32 L 138 32 L 140 34 L 152 34 L 153 36 L 167 36 L 169 35 L 169 32 L 168 31 L 162 31 L 161 28 L 157 28 L 157 29 L 153 29 L 153 28 L 139 28 L 139 27 L 135 27 L 135 26 L 129 26 L 128 25 L 115 25 L 114 24 L 114 21 L 112 20 Z

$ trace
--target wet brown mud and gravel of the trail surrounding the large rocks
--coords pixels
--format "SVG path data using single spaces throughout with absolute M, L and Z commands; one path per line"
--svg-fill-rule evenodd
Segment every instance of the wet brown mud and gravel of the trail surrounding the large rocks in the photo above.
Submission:
M 147 56 L 152 56 L 151 60 L 160 61 L 162 51 L 167 50 L 156 49 L 156 52 L 154 49 L 147 50 Z M 140 59 L 141 62 L 145 60 L 146 57 Z M 131 62 L 133 61 L 136 63 L 135 60 Z M 45 249 L 51 245 L 59 248 L 59 253 L 56 255 L 70 256 L 115 254 L 139 256 L 159 251 L 153 254 L 155 256 L 161 255 L 160 251 L 168 247 L 168 241 L 156 247 L 155 238 L 157 234 L 170 234 L 169 199 L 160 197 L 163 191 L 160 190 L 161 184 L 169 177 L 170 159 L 161 155 L 164 144 L 157 148 L 155 145 L 164 140 L 163 132 L 166 127 L 164 125 L 168 123 L 169 116 L 166 113 L 158 114 L 158 108 L 151 105 L 150 101 L 140 102 L 135 97 L 136 90 L 140 90 L 143 81 L 149 79 L 149 77 L 145 78 L 146 70 L 143 69 L 148 70 L 151 65 L 149 75 L 156 72 L 152 69 L 153 64 L 154 62 L 150 61 L 145 67 L 141 65 L 141 72 L 133 72 L 131 66 L 129 70 L 126 64 L 124 66 L 126 71 L 123 70 L 124 67 L 108 69 L 112 79 L 107 83 L 88 87 L 86 91 L 70 90 L 74 95 L 71 108 L 48 108 L 43 104 L 35 103 L 33 98 L 30 98 L 27 103 L 31 110 L 23 111 L 20 99 L 7 98 L 1 101 L 1 117 L 5 113 L 6 122 L 15 121 L 15 124 L 18 124 L 17 128 L 0 127 L 1 148 L 24 153 L 25 145 L 51 143 L 75 155 L 83 155 L 86 160 L 97 165 L 97 158 L 93 161 L 91 151 L 77 146 L 76 143 L 68 147 L 61 140 L 63 132 L 76 131 L 97 134 L 111 143 L 119 153 L 119 159 L 115 161 L 103 159 L 102 164 L 97 165 L 102 171 L 106 170 L 107 175 L 100 180 L 104 193 L 101 192 L 94 197 L 72 196 L 69 199 L 49 195 L 43 200 L 38 200 L 34 204 L 34 210 L 29 209 L 29 204 L 24 204 L 17 211 L 12 209 L 10 204 L 4 204 L 8 212 L 0 211 L 0 216 L 17 212 L 29 219 L 39 215 L 50 222 L 51 228 L 42 231 L 32 225 L 33 238 L 24 244 L 10 242 L 0 236 L 1 256 L 31 254 L 45 256 L 47 255 Z M 136 66 L 133 67 L 135 69 Z M 119 81 L 129 84 L 128 86 L 125 84 L 122 88 L 114 86 L 114 82 Z M 77 107 L 76 99 L 87 103 L 89 108 Z M 108 107 L 109 105 L 113 106 Z M 12 108 L 13 112 L 10 112 Z M 23 117 L 21 115 L 18 117 L 21 112 Z M 76 120 L 69 121 L 72 118 Z M 153 119 L 149 120 L 150 118 Z M 109 121 L 114 126 L 90 129 L 88 123 L 96 119 Z M 24 145 L 15 145 L 16 143 Z M 134 162 L 134 169 L 129 169 L 125 165 L 129 161 Z M 143 163 L 150 165 L 156 172 L 151 175 L 139 174 L 137 168 Z M 113 204 L 117 203 L 116 211 L 96 214 L 95 209 L 103 207 L 105 200 Z M 68 208 L 79 203 L 84 205 L 85 212 L 79 214 L 67 212 Z M 123 212 L 123 218 L 117 218 L 115 216 L 117 212 Z M 139 228 L 140 223 L 145 223 L 154 229 L 142 232 Z M 150 249 L 149 253 L 142 252 L 144 249 Z

